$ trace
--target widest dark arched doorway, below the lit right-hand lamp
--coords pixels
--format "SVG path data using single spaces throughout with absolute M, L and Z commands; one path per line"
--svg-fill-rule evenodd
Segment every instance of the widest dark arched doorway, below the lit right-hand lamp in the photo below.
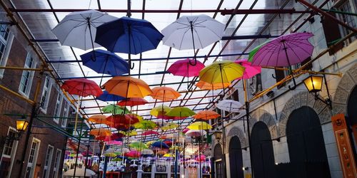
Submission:
M 293 167 L 306 167 L 296 169 L 296 174 L 301 174 L 301 177 L 302 174 L 314 174 L 310 168 L 316 167 L 316 174 L 320 172 L 319 176 L 331 177 L 321 124 L 315 110 L 308 106 L 293 110 L 286 124 L 286 137 L 291 164 Z

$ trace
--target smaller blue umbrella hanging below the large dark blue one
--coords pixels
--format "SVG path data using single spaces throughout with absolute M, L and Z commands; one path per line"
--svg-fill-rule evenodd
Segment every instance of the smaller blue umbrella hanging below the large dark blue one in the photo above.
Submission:
M 105 73 L 115 76 L 129 73 L 129 63 L 109 51 L 96 49 L 95 51 L 84 53 L 80 57 L 83 65 L 96 71 L 96 73 Z

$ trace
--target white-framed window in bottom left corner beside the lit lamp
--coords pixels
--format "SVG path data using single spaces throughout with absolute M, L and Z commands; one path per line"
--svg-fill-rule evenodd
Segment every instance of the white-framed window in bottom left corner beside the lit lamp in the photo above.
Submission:
M 17 134 L 17 131 L 9 127 L 8 136 L 14 137 Z M 9 178 L 11 175 L 12 166 L 14 164 L 14 155 L 16 155 L 18 141 L 5 142 L 4 150 L 1 155 L 0 161 L 0 177 Z

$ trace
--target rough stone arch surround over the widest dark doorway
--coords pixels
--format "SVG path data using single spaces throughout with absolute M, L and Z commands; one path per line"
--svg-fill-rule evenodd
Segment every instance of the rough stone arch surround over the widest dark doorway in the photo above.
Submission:
M 318 114 L 321 125 L 331 120 L 331 110 L 328 106 L 320 100 L 315 100 L 311 93 L 303 91 L 293 95 L 284 105 L 278 122 L 278 137 L 286 136 L 286 123 L 288 122 L 289 115 L 291 115 L 294 110 L 303 106 L 312 108 Z

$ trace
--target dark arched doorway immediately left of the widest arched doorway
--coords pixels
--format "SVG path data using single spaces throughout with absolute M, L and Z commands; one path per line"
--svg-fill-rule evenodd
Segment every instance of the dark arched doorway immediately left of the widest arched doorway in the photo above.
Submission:
M 264 122 L 256 122 L 251 130 L 251 152 L 254 177 L 276 177 L 273 142 Z

